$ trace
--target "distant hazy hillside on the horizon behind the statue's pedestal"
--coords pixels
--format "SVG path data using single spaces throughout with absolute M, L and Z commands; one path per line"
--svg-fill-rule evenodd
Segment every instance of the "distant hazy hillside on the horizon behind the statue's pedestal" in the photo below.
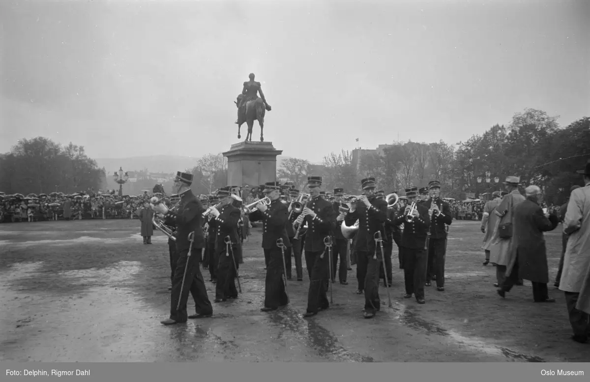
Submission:
M 124 171 L 140 171 L 147 169 L 152 173 L 174 173 L 176 171 L 192 168 L 195 166 L 198 157 L 185 157 L 176 155 L 154 155 L 130 158 L 101 158 L 95 159 L 99 168 L 104 167 L 107 174 L 111 175 L 119 167 Z M 287 156 L 277 157 L 277 167 L 280 167 L 281 160 L 289 159 Z

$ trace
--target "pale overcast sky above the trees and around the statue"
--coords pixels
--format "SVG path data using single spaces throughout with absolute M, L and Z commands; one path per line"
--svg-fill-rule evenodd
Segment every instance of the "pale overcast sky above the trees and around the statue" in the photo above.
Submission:
M 2 0 L 0 152 L 222 152 L 251 72 L 265 140 L 312 162 L 398 134 L 457 143 L 526 107 L 565 126 L 590 115 L 589 4 Z

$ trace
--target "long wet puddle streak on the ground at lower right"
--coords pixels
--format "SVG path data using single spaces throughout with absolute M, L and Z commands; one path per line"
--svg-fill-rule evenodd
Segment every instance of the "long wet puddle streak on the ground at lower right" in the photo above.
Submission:
M 389 310 L 389 309 L 388 309 Z M 402 324 L 408 327 L 414 328 L 415 330 L 427 331 L 432 334 L 437 334 L 442 337 L 449 338 L 457 344 L 466 345 L 476 351 L 481 351 L 490 355 L 503 355 L 506 358 L 510 358 L 514 361 L 525 361 L 525 362 L 545 362 L 543 358 L 536 357 L 535 355 L 527 355 L 518 353 L 510 350 L 509 348 L 500 347 L 496 345 L 487 344 L 484 340 L 475 337 L 465 337 L 453 330 L 447 330 L 441 328 L 433 322 L 428 322 L 418 317 L 418 315 L 409 309 L 404 304 L 394 304 L 394 318 L 400 321 Z

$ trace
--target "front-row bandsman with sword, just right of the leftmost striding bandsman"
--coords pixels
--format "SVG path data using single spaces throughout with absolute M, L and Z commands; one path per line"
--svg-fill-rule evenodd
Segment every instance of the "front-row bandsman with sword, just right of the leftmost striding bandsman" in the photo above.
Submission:
M 231 188 L 222 187 L 217 193 L 219 209 L 212 207 L 211 215 L 217 223 L 217 238 L 215 238 L 215 258 L 217 258 L 217 284 L 215 285 L 215 302 L 237 298 L 238 289 L 235 288 L 235 277 L 238 252 L 238 221 L 240 209 L 232 205 Z M 231 243 L 226 243 L 227 238 Z M 229 252 L 228 252 L 229 251 Z

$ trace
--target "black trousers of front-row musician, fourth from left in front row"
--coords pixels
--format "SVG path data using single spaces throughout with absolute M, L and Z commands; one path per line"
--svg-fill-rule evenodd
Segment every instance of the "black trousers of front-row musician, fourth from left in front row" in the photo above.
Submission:
M 328 257 L 327 251 L 305 251 L 305 262 L 309 271 L 307 312 L 317 313 L 319 308 L 325 309 L 330 306 L 326 295 L 329 280 Z

